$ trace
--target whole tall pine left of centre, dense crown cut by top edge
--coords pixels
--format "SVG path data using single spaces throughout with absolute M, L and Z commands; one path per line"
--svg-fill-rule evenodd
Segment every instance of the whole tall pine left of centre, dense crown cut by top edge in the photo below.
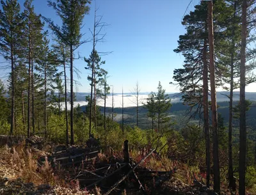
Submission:
M 57 15 L 62 20 L 62 26 L 54 24 L 51 19 L 44 18 L 49 27 L 61 42 L 70 47 L 70 143 L 74 144 L 74 78 L 73 61 L 74 51 L 84 42 L 80 42 L 83 34 L 80 29 L 83 23 L 84 15 L 89 12 L 90 3 L 88 0 L 57 0 L 56 3 L 48 1 L 50 7 L 56 10 Z

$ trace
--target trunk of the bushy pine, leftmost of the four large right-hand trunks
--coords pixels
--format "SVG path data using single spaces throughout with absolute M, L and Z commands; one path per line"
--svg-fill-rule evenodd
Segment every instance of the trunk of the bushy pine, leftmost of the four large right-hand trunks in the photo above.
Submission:
M 205 27 L 205 33 L 207 27 Z M 210 137 L 209 137 L 209 105 L 208 105 L 208 63 L 207 63 L 207 38 L 204 39 L 204 132 L 205 132 L 205 164 L 206 186 L 210 187 Z

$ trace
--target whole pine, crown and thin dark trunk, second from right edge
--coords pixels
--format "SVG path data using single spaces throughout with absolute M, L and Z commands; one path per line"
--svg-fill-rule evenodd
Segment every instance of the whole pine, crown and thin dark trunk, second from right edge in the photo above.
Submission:
M 229 84 L 223 87 L 230 91 L 227 96 L 229 98 L 229 116 L 228 116 L 228 186 L 232 191 L 236 191 L 236 183 L 234 180 L 233 160 L 232 160 L 232 132 L 233 132 L 233 91 L 239 88 L 240 77 L 240 58 L 241 58 L 241 6 L 242 2 L 233 0 L 227 1 L 225 12 L 218 16 L 218 20 L 222 23 L 223 38 L 216 46 L 218 52 L 218 61 L 226 67 L 223 72 L 223 82 Z M 248 31 L 251 31 L 248 26 Z M 250 43 L 253 36 L 247 40 Z M 255 49 L 246 48 L 246 61 L 250 61 L 255 57 Z M 255 75 L 252 70 L 255 69 L 255 63 L 246 65 L 246 84 L 255 82 Z

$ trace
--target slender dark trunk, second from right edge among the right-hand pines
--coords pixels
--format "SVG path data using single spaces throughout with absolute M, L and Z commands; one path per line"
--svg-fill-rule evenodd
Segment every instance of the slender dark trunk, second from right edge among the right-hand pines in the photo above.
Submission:
M 236 18 L 236 1 L 234 2 L 234 18 Z M 232 160 L 232 120 L 233 120 L 233 90 L 234 90 L 234 49 L 235 49 L 235 29 L 232 29 L 232 51 L 230 55 L 230 95 L 229 95 L 229 118 L 228 118 L 228 187 L 236 191 L 236 182 L 234 181 L 234 170 Z

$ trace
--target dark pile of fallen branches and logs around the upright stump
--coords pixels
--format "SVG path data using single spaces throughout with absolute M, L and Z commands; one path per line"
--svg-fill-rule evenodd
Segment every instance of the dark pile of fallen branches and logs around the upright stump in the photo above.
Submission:
M 88 144 L 90 145 L 90 144 Z M 65 169 L 68 172 L 67 182 L 79 181 L 79 185 L 86 190 L 93 190 L 98 187 L 103 194 L 113 194 L 119 186 L 121 189 L 132 189 L 148 194 L 152 189 L 145 189 L 145 182 L 154 183 L 154 189 L 168 180 L 173 170 L 151 171 L 141 168 L 140 164 L 150 157 L 156 150 L 150 150 L 140 162 L 132 162 L 128 152 L 128 141 L 124 142 L 124 159 L 116 159 L 108 162 L 100 162 L 99 146 L 86 148 L 70 147 L 56 148 L 51 156 L 41 157 L 38 165 L 42 166 L 45 161 L 51 163 L 52 168 Z M 110 163 L 112 162 L 112 163 Z M 144 183 L 143 183 L 143 182 Z

